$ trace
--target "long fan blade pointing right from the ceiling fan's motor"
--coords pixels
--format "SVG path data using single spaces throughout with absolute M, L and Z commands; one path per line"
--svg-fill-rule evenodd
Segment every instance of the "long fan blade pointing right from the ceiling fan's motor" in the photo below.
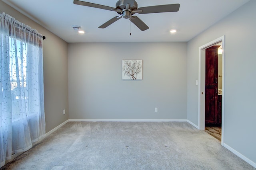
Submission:
M 138 8 L 142 12 L 139 14 L 150 14 L 150 13 L 160 13 L 160 12 L 177 12 L 180 9 L 180 4 L 168 4 L 168 5 L 158 5 L 158 6 L 146 6 Z

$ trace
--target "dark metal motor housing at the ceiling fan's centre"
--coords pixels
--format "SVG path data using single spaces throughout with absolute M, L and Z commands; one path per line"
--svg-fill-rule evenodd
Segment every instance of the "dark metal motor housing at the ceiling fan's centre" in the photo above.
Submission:
M 131 6 L 132 4 L 130 4 L 129 9 L 126 9 L 127 4 L 124 4 L 124 0 L 118 0 L 118 2 L 116 2 L 116 9 L 120 9 L 122 10 L 121 12 L 117 12 L 118 14 L 122 14 L 123 18 L 130 18 L 130 16 L 132 15 L 132 11 L 133 10 L 137 10 L 138 8 L 138 4 L 136 1 L 134 1 L 134 4 Z

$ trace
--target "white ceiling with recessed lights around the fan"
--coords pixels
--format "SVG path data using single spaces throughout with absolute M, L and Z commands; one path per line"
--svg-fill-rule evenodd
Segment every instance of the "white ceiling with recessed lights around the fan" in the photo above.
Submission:
M 124 18 L 105 29 L 99 29 L 100 25 L 119 14 L 108 10 L 75 5 L 73 0 L 2 1 L 66 42 L 75 43 L 189 41 L 249 0 L 136 0 L 138 8 L 180 4 L 178 12 L 134 14 L 148 25 L 149 29 L 146 31 L 141 31 Z M 87 0 L 86 2 L 116 7 L 117 0 Z M 81 26 L 86 33 L 84 35 L 78 34 L 72 29 L 72 25 Z M 171 34 L 169 31 L 174 28 L 177 29 L 177 33 Z M 130 29 L 132 35 L 130 35 Z

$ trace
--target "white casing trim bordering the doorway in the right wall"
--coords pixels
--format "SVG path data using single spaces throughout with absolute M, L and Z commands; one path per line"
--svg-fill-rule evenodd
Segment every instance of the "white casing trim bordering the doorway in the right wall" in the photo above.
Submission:
M 221 145 L 224 145 L 224 97 L 225 97 L 225 35 L 219 37 L 205 45 L 199 47 L 199 65 L 198 65 L 198 129 L 204 130 L 204 111 L 201 111 L 201 60 L 202 60 L 202 50 L 205 50 L 212 45 L 222 42 L 222 128 L 221 128 Z

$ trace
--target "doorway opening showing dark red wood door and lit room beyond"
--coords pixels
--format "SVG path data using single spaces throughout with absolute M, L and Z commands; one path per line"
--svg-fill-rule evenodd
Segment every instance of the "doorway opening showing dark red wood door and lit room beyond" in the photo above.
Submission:
M 221 127 L 222 42 L 205 50 L 205 127 Z

